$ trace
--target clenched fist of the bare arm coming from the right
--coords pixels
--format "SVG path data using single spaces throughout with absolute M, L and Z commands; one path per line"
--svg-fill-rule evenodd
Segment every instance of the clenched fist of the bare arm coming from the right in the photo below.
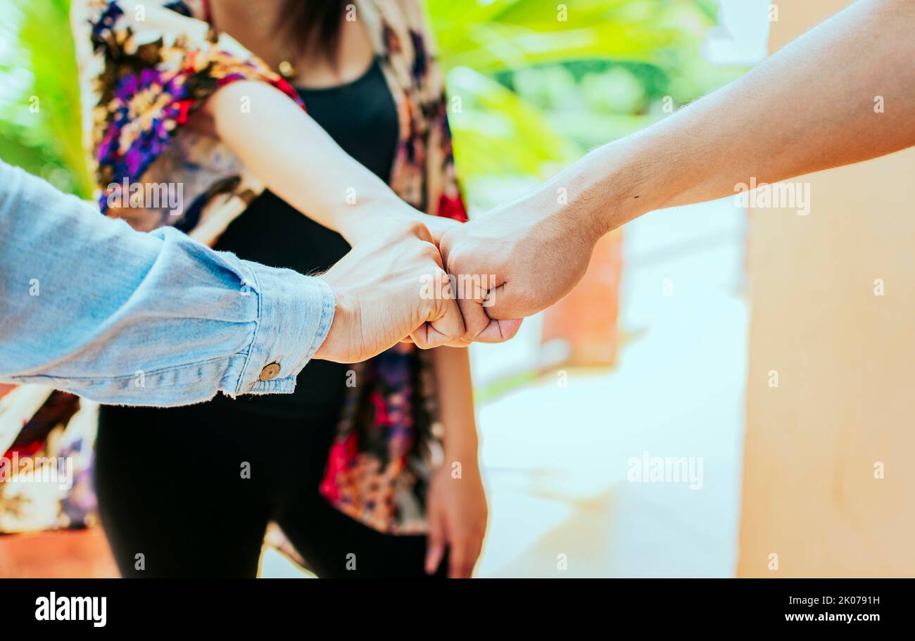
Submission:
M 511 319 L 554 304 L 581 280 L 597 238 L 548 198 L 522 198 L 448 230 L 439 243 L 447 272 L 487 283 L 458 296 L 465 337 L 514 336 L 520 321 Z

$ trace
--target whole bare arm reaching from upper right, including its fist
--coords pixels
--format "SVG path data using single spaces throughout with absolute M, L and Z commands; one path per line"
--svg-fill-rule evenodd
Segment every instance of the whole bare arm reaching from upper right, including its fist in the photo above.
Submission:
M 915 144 L 913 31 L 915 2 L 859 0 L 721 90 L 449 231 L 448 272 L 495 275 L 490 318 L 531 315 L 580 280 L 598 238 L 643 213 Z M 461 301 L 465 319 L 479 304 Z M 471 336 L 480 329 L 468 322 Z

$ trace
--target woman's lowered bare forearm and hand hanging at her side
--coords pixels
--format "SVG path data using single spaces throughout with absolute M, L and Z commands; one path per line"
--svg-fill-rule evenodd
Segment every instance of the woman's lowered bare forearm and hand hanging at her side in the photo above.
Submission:
M 448 547 L 448 576 L 469 578 L 486 533 L 486 495 L 477 460 L 479 442 L 473 415 L 468 350 L 439 347 L 433 352 L 445 460 L 429 487 L 429 544 L 425 571 L 436 572 Z

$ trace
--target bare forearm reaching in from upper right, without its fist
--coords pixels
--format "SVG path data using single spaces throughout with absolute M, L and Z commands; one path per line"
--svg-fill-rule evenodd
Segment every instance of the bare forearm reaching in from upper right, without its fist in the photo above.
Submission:
M 723 89 L 591 152 L 541 196 L 600 236 L 652 209 L 915 144 L 915 2 L 859 0 Z M 877 112 L 877 96 L 885 105 Z

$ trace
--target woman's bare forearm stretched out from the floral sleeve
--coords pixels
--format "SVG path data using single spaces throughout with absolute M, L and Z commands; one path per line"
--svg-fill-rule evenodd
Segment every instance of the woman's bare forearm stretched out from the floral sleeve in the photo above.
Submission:
M 282 91 L 257 80 L 215 91 L 191 126 L 217 135 L 280 198 L 350 244 L 420 220 L 436 240 L 457 225 L 407 205 Z

